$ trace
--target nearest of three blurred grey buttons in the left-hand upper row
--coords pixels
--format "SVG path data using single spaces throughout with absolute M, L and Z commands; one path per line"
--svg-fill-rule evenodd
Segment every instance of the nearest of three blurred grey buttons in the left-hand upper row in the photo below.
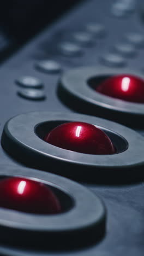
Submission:
M 82 49 L 79 45 L 69 42 L 63 42 L 61 45 L 59 45 L 59 50 L 62 54 L 68 56 L 76 56 L 82 54 Z

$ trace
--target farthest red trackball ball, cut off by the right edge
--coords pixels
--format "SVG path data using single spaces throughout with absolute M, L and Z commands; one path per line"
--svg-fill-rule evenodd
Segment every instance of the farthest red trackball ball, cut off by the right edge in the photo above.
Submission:
M 120 100 L 144 103 L 144 80 L 134 75 L 122 74 L 107 78 L 95 90 Z

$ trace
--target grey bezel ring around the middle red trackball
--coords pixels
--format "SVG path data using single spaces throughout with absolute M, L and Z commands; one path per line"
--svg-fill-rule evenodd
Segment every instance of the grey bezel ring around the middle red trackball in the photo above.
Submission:
M 121 153 L 111 155 L 83 154 L 55 147 L 39 138 L 35 133 L 35 127 L 46 122 L 49 127 L 51 122 L 56 121 L 83 121 L 104 127 L 124 138 L 128 147 Z M 5 124 L 1 142 L 10 155 L 27 166 L 73 179 L 86 177 L 88 181 L 96 178 L 98 182 L 100 177 L 103 181 L 107 178 L 112 181 L 124 176 L 123 181 L 127 178 L 129 181 L 134 173 L 136 181 L 144 165 L 144 138 L 139 133 L 112 121 L 88 115 L 57 112 L 30 112 L 17 115 Z

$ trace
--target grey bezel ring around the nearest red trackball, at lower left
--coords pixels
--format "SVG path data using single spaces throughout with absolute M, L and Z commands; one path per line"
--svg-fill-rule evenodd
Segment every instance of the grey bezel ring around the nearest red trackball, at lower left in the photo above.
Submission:
M 1 242 L 24 247 L 31 245 L 34 248 L 40 245 L 65 248 L 65 245 L 79 244 L 79 236 L 89 241 L 91 232 L 97 238 L 104 235 L 105 207 L 99 197 L 87 188 L 56 174 L 1 165 L 0 179 L 9 176 L 34 179 L 64 191 L 73 198 L 74 206 L 67 212 L 54 215 L 0 208 Z

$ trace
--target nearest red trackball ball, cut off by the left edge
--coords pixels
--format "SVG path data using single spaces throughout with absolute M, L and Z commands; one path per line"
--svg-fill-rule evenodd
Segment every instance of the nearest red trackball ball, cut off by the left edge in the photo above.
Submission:
M 61 212 L 61 205 L 50 188 L 31 179 L 16 177 L 1 180 L 0 207 L 37 214 Z

